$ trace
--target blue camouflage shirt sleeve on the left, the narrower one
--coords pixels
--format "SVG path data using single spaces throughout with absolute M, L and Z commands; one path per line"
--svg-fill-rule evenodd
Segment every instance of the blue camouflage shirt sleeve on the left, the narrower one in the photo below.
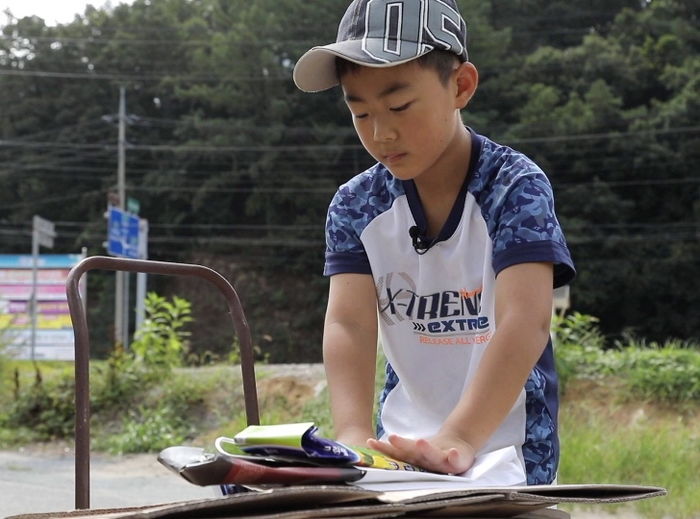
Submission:
M 325 276 L 341 273 L 371 274 L 369 259 L 360 239 L 362 214 L 358 197 L 344 185 L 333 197 L 326 217 Z

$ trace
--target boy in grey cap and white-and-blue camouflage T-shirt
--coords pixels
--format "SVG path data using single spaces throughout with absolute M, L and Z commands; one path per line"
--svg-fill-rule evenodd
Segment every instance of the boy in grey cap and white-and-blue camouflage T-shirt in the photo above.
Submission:
M 295 66 L 301 90 L 340 84 L 378 161 L 328 211 L 332 417 L 338 440 L 439 472 L 510 447 L 521 481 L 547 484 L 559 457 L 552 287 L 573 263 L 544 173 L 462 124 L 478 84 L 466 34 L 453 0 L 355 0 L 336 43 Z

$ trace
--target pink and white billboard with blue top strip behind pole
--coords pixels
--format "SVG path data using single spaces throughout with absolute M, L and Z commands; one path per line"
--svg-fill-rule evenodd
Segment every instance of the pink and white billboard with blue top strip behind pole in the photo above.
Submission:
M 37 318 L 34 359 L 74 360 L 73 327 L 66 297 L 70 269 L 81 254 L 37 256 Z M 0 254 L 0 343 L 5 353 L 32 358 L 33 259 L 30 254 Z M 81 296 L 85 297 L 81 279 Z

